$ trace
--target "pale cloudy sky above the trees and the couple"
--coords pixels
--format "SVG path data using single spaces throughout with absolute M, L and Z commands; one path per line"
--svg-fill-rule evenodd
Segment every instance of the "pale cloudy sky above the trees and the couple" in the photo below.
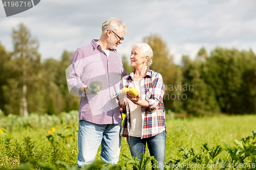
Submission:
M 251 49 L 256 54 L 255 9 L 255 0 L 41 0 L 25 12 L 6 17 L 0 4 L 0 42 L 12 51 L 12 29 L 24 23 L 39 41 L 42 62 L 60 60 L 64 50 L 74 52 L 99 39 L 102 23 L 116 17 L 127 26 L 117 47 L 121 55 L 129 58 L 134 43 L 158 35 L 174 63 L 181 64 L 183 55 L 195 59 L 203 46 L 208 54 L 217 46 Z

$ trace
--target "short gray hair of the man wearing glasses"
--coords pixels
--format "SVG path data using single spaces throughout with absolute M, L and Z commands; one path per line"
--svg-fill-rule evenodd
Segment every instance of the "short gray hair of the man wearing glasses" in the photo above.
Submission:
M 101 30 L 102 32 L 106 32 L 108 30 L 112 30 L 114 32 L 117 32 L 120 28 L 120 26 L 123 27 L 123 31 L 126 32 L 126 25 L 123 21 L 117 18 L 109 18 L 105 22 L 102 23 Z

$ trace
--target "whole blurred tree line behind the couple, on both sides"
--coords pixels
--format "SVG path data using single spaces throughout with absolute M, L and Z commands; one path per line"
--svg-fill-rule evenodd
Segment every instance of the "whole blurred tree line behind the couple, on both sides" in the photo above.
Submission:
M 22 23 L 13 28 L 12 40 L 12 52 L 0 42 L 0 109 L 5 115 L 78 110 L 80 98 L 69 94 L 65 74 L 73 52 L 64 50 L 60 60 L 41 62 L 39 42 Z M 177 65 L 160 36 L 143 42 L 154 52 L 150 69 L 163 77 L 166 110 L 195 116 L 256 112 L 256 56 L 251 50 L 216 47 L 207 55 L 202 47 L 195 60 L 183 56 Z M 126 56 L 123 64 L 127 72 L 133 70 Z

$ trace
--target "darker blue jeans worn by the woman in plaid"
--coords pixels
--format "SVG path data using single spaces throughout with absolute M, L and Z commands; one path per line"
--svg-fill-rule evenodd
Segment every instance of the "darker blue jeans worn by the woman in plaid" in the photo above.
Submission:
M 129 144 L 129 148 L 131 151 L 131 155 L 137 157 L 137 160 L 140 161 L 140 154 L 145 153 L 146 143 L 147 148 L 150 150 L 150 156 L 155 156 L 158 161 L 158 166 L 160 169 L 164 169 L 164 153 L 165 153 L 165 141 L 166 141 L 166 133 L 165 131 L 157 134 L 156 136 L 143 138 L 133 137 L 127 138 L 127 142 Z M 152 162 L 152 167 L 153 162 Z M 134 168 L 135 169 L 135 168 Z

